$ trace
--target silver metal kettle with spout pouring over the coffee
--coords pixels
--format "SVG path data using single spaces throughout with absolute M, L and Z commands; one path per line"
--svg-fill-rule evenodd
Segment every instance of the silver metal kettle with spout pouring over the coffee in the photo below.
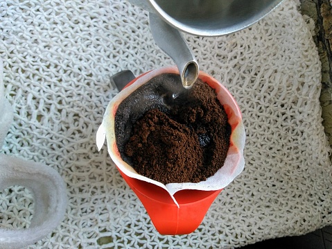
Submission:
M 282 0 L 128 0 L 148 10 L 157 45 L 177 65 L 182 85 L 190 88 L 198 77 L 198 62 L 179 31 L 220 36 L 251 26 Z

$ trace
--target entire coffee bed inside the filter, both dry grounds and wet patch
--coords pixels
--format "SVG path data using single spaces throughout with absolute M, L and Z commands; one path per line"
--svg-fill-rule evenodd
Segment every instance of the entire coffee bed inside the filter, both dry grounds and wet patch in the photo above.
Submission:
M 216 92 L 161 74 L 132 92 L 115 117 L 116 145 L 137 173 L 164 184 L 200 182 L 227 156 L 231 128 Z

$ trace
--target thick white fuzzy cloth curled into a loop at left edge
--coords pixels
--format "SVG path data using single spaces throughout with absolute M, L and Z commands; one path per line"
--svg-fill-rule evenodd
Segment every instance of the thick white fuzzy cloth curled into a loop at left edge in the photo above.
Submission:
M 12 119 L 12 107 L 4 96 L 0 60 L 0 149 Z M 46 237 L 62 221 L 67 207 L 66 186 L 57 171 L 41 163 L 0 153 L 0 190 L 14 185 L 26 187 L 33 194 L 33 218 L 26 229 L 0 228 L 0 248 L 23 248 Z

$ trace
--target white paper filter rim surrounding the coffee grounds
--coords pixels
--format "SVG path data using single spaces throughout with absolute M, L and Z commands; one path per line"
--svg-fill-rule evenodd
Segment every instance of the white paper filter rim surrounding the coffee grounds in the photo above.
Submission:
M 166 189 L 175 201 L 175 203 L 177 203 L 175 198 L 173 197 L 173 195 L 177 191 L 183 189 L 198 189 L 207 191 L 223 189 L 243 171 L 245 165 L 245 160 L 243 157 L 243 148 L 245 146 L 245 128 L 243 126 L 242 116 L 238 105 L 236 104 L 236 101 L 231 96 L 231 94 L 229 94 L 227 89 L 225 89 L 223 85 L 218 83 L 217 80 L 211 78 L 211 76 L 200 72 L 200 75 L 198 77 L 203 81 L 209 80 L 209 85 L 216 89 L 216 92 L 218 93 L 217 97 L 220 103 L 224 105 L 227 115 L 229 116 L 229 124 L 232 128 L 231 146 L 229 148 L 224 166 L 222 166 L 214 175 L 207 178 L 207 180 L 198 183 L 184 182 L 169 183 L 165 185 L 161 182 L 146 178 L 143 175 L 139 175 L 132 168 L 132 166 L 130 166 L 121 159 L 119 151 L 116 147 L 114 115 L 121 101 L 123 101 L 123 99 L 125 99 L 131 92 L 146 83 L 151 78 L 164 73 L 178 74 L 179 71 L 177 70 L 177 67 L 161 67 L 160 69 L 150 71 L 148 72 L 148 74 L 138 77 L 132 85 L 123 89 L 112 99 L 112 101 L 110 101 L 105 110 L 103 122 L 101 123 L 101 126 L 99 127 L 96 135 L 96 144 L 98 146 L 98 149 L 100 150 L 106 138 L 108 152 L 110 153 L 110 156 L 114 163 L 119 167 L 121 171 L 123 171 L 123 173 L 125 173 L 131 178 L 137 178 L 139 180 L 150 182 Z

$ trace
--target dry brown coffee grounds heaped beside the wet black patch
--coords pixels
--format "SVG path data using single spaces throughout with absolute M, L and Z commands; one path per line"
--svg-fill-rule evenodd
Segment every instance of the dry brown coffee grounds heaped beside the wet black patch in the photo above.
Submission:
M 174 99 L 169 112 L 145 112 L 130 134 L 123 151 L 131 166 L 167 184 L 214 175 L 225 162 L 231 128 L 216 92 L 198 80 Z

